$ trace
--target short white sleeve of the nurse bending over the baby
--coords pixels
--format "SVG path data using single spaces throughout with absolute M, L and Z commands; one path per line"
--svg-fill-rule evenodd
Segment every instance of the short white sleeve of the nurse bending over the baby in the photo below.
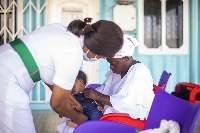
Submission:
M 66 90 L 71 90 L 78 71 L 82 65 L 83 53 L 79 49 L 70 49 L 59 53 L 54 58 L 54 84 Z

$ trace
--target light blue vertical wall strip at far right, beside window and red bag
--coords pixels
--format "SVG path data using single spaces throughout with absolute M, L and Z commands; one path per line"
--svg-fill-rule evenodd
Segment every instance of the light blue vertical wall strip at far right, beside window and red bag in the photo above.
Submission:
M 200 84 L 200 1 L 190 0 L 190 79 Z

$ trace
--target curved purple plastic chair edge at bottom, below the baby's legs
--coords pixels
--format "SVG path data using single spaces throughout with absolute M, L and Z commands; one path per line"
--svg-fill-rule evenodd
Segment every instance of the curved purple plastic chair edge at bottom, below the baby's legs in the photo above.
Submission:
M 90 120 L 78 125 L 73 133 L 135 133 L 134 127 L 111 121 Z

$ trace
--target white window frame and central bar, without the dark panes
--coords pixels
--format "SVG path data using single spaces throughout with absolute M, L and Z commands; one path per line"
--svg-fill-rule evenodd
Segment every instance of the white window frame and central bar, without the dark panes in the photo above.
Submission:
M 188 0 L 183 1 L 183 44 L 180 48 L 169 48 L 166 45 L 166 1 L 161 1 L 162 40 L 158 48 L 148 48 L 144 44 L 144 0 L 138 0 L 138 41 L 139 54 L 188 54 Z

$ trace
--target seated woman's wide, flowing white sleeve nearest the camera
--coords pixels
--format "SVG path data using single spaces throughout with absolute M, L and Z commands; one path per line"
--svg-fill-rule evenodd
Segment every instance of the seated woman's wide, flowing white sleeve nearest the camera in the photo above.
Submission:
M 128 113 L 132 118 L 147 118 L 153 98 L 153 80 L 146 66 L 138 65 L 116 95 L 110 96 L 114 109 Z

